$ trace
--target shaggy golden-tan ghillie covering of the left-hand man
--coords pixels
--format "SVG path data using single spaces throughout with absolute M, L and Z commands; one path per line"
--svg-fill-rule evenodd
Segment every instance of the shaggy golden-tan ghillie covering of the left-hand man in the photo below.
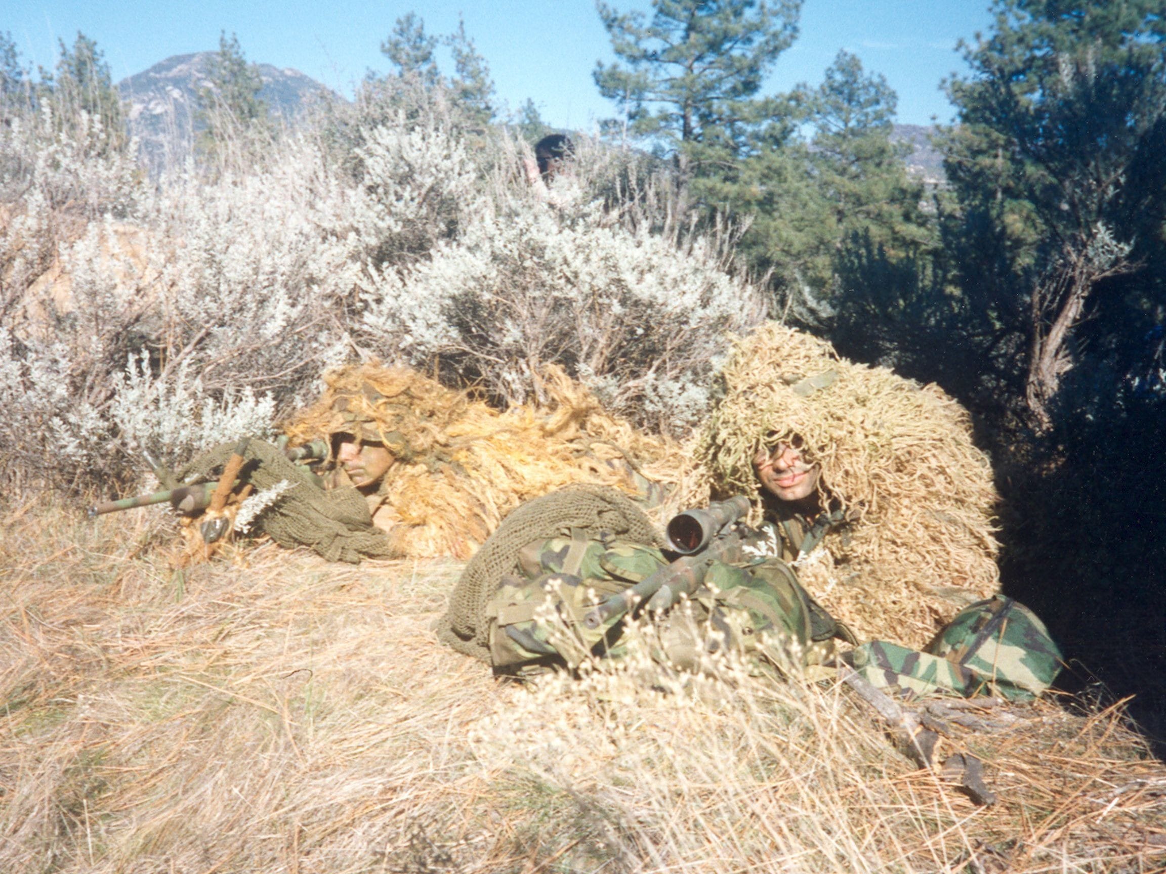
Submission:
M 469 558 L 532 498 L 577 482 L 635 495 L 648 481 L 675 486 L 690 467 L 679 446 L 607 415 L 553 366 L 550 403 L 505 414 L 405 368 L 345 367 L 325 382 L 285 430 L 293 445 L 345 432 L 393 451 L 377 523 L 399 556 Z

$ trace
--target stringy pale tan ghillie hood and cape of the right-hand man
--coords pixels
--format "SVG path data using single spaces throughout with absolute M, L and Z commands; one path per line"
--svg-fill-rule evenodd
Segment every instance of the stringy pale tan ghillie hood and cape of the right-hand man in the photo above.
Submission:
M 696 450 L 710 485 L 760 506 L 753 456 L 803 440 L 855 522 L 799 576 L 859 636 L 922 647 L 961 606 L 998 591 L 991 465 L 940 388 L 847 361 L 775 323 L 737 345 L 723 378 Z

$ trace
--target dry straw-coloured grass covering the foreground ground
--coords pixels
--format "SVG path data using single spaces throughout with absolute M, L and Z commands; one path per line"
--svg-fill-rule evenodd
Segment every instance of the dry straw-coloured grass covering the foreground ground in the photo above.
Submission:
M 1166 867 L 1166 768 L 1107 711 L 965 734 L 975 808 L 844 689 L 644 663 L 499 685 L 430 630 L 459 564 L 0 513 L 0 871 Z

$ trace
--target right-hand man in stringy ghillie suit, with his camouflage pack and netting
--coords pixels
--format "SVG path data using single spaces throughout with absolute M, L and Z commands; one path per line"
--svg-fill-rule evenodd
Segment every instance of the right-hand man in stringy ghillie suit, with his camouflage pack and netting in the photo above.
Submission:
M 681 566 L 676 520 L 665 547 L 618 494 L 548 494 L 473 557 L 440 637 L 504 674 L 580 669 L 620 655 L 639 615 L 672 667 L 736 653 L 779 674 L 836 668 L 868 700 L 878 688 L 1026 698 L 1052 683 L 1060 654 L 1039 619 L 981 600 L 998 590 L 996 494 L 958 404 L 775 324 L 738 344 L 724 381 L 697 457 L 714 496 L 736 495 L 721 507 L 739 519 L 752 505 L 753 526 L 729 522 Z M 840 656 L 836 639 L 855 649 Z

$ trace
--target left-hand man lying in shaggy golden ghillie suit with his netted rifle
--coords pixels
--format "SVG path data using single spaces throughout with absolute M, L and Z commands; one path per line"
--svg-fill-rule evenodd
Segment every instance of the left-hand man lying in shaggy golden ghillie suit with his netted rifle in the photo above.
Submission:
M 324 381 L 279 445 L 226 443 L 177 472 L 174 485 L 206 484 L 208 494 L 226 480 L 210 507 L 180 507 L 191 556 L 209 557 L 208 531 L 217 547 L 246 520 L 240 530 L 330 561 L 469 558 L 528 499 L 588 482 L 651 508 L 683 470 L 679 446 L 607 415 L 553 366 L 541 381 L 548 402 L 506 413 L 408 368 L 349 366 Z M 177 500 L 187 491 L 159 495 Z

